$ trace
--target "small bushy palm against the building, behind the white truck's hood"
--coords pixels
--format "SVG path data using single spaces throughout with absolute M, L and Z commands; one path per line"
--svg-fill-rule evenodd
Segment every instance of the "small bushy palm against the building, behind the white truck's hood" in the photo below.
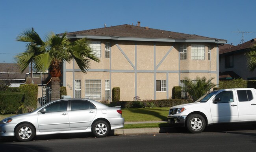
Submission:
M 216 85 L 211 82 L 214 78 L 210 78 L 206 80 L 206 77 L 196 77 L 195 81 L 192 81 L 188 77 L 185 78 L 185 86 L 186 91 L 191 96 L 193 101 L 199 99 L 202 95 L 206 94 L 211 90 L 211 88 L 215 87 Z

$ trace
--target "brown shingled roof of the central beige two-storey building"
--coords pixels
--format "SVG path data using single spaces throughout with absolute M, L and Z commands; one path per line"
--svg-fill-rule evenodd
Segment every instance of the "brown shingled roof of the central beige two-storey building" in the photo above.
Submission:
M 61 33 L 63 34 L 63 33 Z M 61 35 L 60 34 L 60 35 Z M 70 32 L 68 36 L 72 35 L 86 35 L 86 36 L 117 36 L 126 38 L 164 38 L 164 39 L 193 39 L 193 40 L 217 40 L 226 41 L 222 39 L 209 38 L 195 34 L 184 34 L 160 29 L 152 29 L 149 27 L 138 27 L 135 25 L 117 25 L 111 27 L 103 27 L 98 29 L 89 29 L 84 31 Z

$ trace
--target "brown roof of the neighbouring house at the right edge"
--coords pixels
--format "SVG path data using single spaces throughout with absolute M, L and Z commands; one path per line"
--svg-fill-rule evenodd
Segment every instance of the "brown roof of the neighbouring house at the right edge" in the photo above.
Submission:
M 252 45 L 256 44 L 256 38 L 247 41 L 243 44 L 239 44 L 233 47 L 228 47 L 228 48 L 224 48 L 224 49 L 220 49 L 219 54 L 225 54 L 225 53 L 229 53 L 229 52 L 234 52 L 234 51 L 239 51 L 239 50 L 245 50 L 248 49 L 249 47 L 251 47 Z

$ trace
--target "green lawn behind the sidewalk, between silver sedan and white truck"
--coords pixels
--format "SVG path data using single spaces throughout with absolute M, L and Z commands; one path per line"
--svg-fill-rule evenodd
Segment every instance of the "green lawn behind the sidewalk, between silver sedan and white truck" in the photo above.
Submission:
M 166 120 L 170 108 L 122 109 L 125 122 Z

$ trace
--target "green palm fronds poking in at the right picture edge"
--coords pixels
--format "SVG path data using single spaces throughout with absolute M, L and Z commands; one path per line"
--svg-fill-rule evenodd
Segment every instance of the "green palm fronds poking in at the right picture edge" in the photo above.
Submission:
M 256 68 L 256 44 L 252 45 L 247 52 L 245 52 L 247 58 L 247 68 L 250 72 Z

